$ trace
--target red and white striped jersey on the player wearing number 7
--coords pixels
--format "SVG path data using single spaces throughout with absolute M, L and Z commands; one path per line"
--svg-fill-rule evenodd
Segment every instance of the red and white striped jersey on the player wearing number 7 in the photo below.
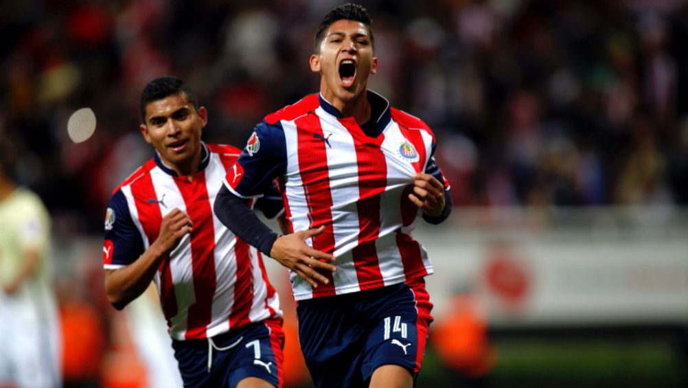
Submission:
M 189 181 L 155 157 L 114 191 L 105 219 L 105 269 L 136 261 L 160 233 L 162 217 L 179 208 L 193 231 L 155 274 L 169 333 L 178 340 L 212 337 L 281 316 L 261 254 L 213 214 L 215 196 L 239 149 L 204 144 L 200 171 Z M 277 200 L 280 200 L 277 197 Z

